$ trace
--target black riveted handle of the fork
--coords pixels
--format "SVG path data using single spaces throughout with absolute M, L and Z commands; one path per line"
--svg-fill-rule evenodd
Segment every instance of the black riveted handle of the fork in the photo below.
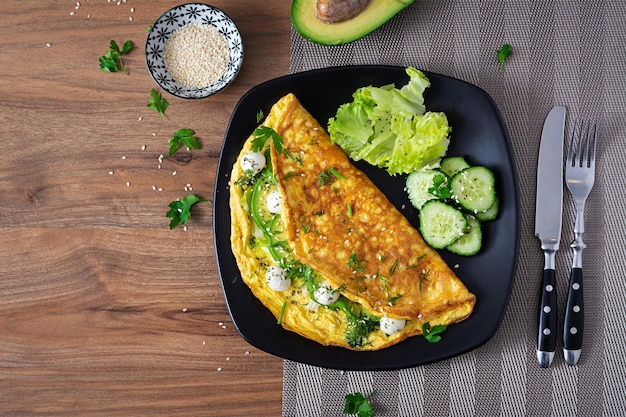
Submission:
M 563 325 L 563 353 L 568 365 L 576 365 L 583 346 L 584 326 L 583 270 L 572 268 Z

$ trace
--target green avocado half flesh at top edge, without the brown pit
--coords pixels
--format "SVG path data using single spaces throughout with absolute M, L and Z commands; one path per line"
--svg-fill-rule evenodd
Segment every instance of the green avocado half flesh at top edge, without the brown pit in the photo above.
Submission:
M 355 17 L 339 23 L 317 19 L 316 0 L 293 0 L 291 23 L 305 39 L 321 45 L 342 45 L 355 41 L 395 16 L 415 0 L 370 0 Z

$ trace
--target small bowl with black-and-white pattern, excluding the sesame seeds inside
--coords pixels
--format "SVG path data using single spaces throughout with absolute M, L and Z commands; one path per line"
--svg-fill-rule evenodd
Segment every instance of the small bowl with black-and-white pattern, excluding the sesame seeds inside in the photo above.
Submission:
M 191 88 L 176 82 L 163 60 L 165 43 L 177 29 L 188 24 L 212 26 L 224 36 L 230 51 L 226 71 L 211 85 Z M 224 90 L 237 77 L 243 62 L 243 42 L 235 23 L 223 11 L 203 3 L 187 3 L 165 12 L 154 23 L 146 41 L 146 65 L 152 79 L 168 93 L 185 99 L 200 99 Z

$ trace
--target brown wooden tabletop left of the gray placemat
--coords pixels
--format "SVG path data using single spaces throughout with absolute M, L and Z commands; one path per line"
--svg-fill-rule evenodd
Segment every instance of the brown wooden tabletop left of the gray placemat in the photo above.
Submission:
M 230 321 L 211 204 L 187 231 L 165 213 L 188 184 L 212 197 L 235 104 L 289 72 L 290 2 L 211 1 L 242 33 L 243 68 L 213 98 L 165 96 L 162 120 L 144 44 L 180 3 L 2 2 L 0 415 L 281 413 L 282 360 Z M 135 44 L 129 75 L 99 70 L 112 39 Z M 180 128 L 202 149 L 159 163 Z

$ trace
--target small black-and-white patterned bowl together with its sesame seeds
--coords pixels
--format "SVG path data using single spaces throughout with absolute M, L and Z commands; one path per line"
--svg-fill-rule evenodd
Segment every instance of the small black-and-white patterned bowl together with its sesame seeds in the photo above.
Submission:
M 215 95 L 237 76 L 243 43 L 221 10 L 187 3 L 165 12 L 146 41 L 146 64 L 163 90 L 186 99 Z

